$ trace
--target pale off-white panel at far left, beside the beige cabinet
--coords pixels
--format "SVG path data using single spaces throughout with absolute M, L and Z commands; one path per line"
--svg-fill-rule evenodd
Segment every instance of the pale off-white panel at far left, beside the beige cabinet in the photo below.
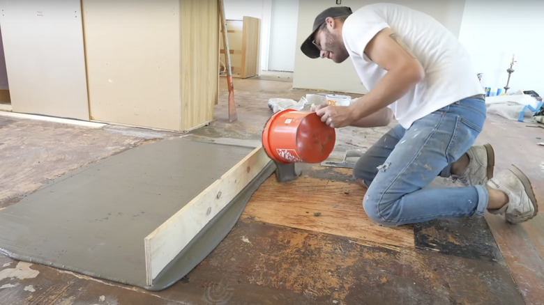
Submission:
M 13 111 L 89 120 L 79 0 L 0 1 Z

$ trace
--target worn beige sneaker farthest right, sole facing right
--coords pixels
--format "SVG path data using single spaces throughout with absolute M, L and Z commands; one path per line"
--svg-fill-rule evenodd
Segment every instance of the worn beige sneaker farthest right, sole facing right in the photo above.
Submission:
M 538 212 L 531 182 L 517 167 L 501 171 L 488 181 L 488 187 L 502 191 L 508 196 L 508 203 L 491 214 L 504 214 L 506 221 L 517 224 L 533 218 Z

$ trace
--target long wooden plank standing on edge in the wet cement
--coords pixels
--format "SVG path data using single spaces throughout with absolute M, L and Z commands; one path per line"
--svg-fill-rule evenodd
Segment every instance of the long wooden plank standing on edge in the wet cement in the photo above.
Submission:
M 270 158 L 262 146 L 255 148 L 232 169 L 202 193 L 192 199 L 179 212 L 145 237 L 146 284 L 170 263 L 206 224 L 248 185 Z

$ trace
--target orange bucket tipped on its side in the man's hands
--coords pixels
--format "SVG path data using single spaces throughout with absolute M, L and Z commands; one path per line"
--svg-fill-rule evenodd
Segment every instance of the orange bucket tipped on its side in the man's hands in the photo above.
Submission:
M 266 155 L 280 163 L 319 163 L 334 148 L 334 128 L 315 112 L 285 109 L 269 118 L 262 132 Z

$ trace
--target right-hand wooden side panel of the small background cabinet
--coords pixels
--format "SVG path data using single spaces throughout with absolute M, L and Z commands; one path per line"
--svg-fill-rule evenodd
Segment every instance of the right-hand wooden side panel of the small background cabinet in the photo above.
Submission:
M 259 19 L 243 17 L 242 70 L 241 77 L 257 75 L 257 58 L 259 52 Z

